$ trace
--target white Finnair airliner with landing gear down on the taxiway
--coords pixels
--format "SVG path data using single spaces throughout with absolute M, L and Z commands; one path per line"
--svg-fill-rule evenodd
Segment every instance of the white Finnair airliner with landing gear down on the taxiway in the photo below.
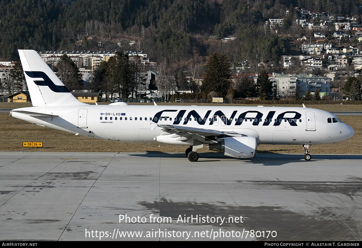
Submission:
M 115 102 L 90 105 L 78 101 L 34 50 L 18 50 L 33 107 L 10 116 L 61 131 L 102 140 L 187 145 L 233 158 L 252 158 L 258 144 L 309 146 L 348 140 L 354 130 L 337 116 L 303 107 L 141 106 Z

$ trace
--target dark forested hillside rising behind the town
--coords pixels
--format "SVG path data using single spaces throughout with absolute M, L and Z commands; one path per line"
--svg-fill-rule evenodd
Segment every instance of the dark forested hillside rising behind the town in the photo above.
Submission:
M 0 57 L 17 60 L 17 49 L 143 50 L 155 61 L 203 60 L 224 52 L 231 62 L 278 60 L 284 41 L 269 33 L 269 18 L 284 18 L 286 10 L 308 8 L 338 16 L 358 16 L 362 0 L 1 0 Z M 290 30 L 285 30 L 289 32 Z M 222 43 L 209 39 L 236 35 Z M 96 39 L 84 40 L 87 35 Z M 117 42 L 127 38 L 135 47 Z M 77 40 L 83 39 L 79 45 Z M 98 42 L 102 46 L 98 47 Z

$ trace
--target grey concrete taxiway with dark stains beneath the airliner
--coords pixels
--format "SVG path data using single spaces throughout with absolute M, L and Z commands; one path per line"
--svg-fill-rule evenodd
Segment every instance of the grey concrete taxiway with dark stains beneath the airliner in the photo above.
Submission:
M 0 152 L 0 240 L 362 240 L 361 175 L 362 155 Z

